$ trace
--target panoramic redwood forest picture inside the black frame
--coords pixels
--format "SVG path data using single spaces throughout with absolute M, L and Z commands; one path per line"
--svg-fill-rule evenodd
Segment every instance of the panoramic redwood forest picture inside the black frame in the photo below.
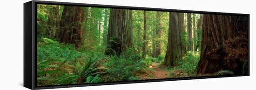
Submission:
M 37 4 L 37 86 L 249 74 L 249 17 Z

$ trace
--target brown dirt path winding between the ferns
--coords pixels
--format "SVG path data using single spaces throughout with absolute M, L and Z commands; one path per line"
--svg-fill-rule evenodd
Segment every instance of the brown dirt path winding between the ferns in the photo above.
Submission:
M 141 79 L 161 79 L 161 78 L 169 77 L 169 72 L 166 71 L 164 68 L 157 67 L 157 63 L 153 63 L 152 65 L 149 65 L 148 67 L 151 68 L 152 70 L 154 70 L 154 72 L 150 72 L 150 71 L 146 72 L 146 75 L 141 77 Z

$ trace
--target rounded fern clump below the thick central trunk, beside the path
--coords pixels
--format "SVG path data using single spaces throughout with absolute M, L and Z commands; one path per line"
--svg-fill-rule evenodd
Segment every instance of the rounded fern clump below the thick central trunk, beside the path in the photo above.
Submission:
M 147 66 L 143 66 L 140 56 L 132 50 L 127 50 L 121 53 L 120 57 L 114 55 L 111 56 L 108 61 L 103 63 L 103 66 L 107 68 L 106 81 L 127 81 L 137 80 L 135 77 Z

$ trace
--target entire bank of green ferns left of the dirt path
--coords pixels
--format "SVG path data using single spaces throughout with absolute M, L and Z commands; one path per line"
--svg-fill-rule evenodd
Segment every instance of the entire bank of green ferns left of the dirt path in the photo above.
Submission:
M 139 80 L 136 77 L 148 70 L 138 53 L 127 50 L 106 56 L 102 47 L 95 51 L 77 50 L 74 45 L 59 43 L 38 35 L 37 84 L 61 85 Z

